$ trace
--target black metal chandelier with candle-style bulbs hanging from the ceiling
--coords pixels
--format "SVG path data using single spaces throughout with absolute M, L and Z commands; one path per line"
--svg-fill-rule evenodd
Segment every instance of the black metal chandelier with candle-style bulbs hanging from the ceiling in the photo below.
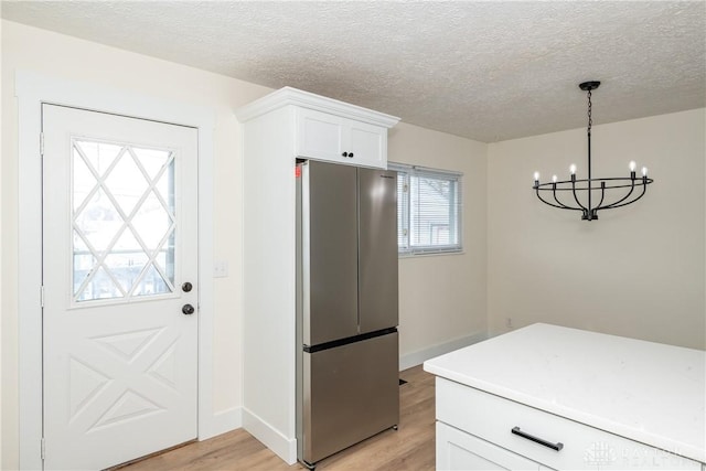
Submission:
M 580 211 L 581 220 L 584 221 L 598 220 L 598 212 L 601 210 L 612 210 L 634 203 L 644 195 L 648 185 L 653 182 L 652 179 L 648 178 L 646 167 L 642 168 L 642 178 L 635 176 L 637 164 L 634 161 L 631 161 L 629 165 L 630 176 L 591 178 L 591 90 L 598 88 L 600 82 L 584 82 L 579 85 L 580 89 L 588 92 L 588 179 L 577 179 L 576 165 L 571 164 L 569 168 L 570 180 L 557 181 L 556 175 L 554 175 L 552 176 L 552 182 L 539 183 L 539 172 L 534 172 L 534 186 L 532 186 L 543 203 L 560 210 Z M 567 192 L 569 193 L 568 196 L 566 196 Z M 579 199 L 578 193 L 584 192 L 586 196 Z M 600 192 L 600 200 L 595 206 L 593 201 L 599 195 L 593 195 L 593 192 Z M 611 194 L 607 194 L 608 192 Z M 543 193 L 546 196 L 543 196 Z M 559 195 L 564 195 L 563 199 L 568 201 L 563 202 Z M 574 201 L 571 201 L 571 196 Z M 586 204 L 581 203 L 581 200 L 585 200 Z M 608 200 L 612 200 L 612 202 Z

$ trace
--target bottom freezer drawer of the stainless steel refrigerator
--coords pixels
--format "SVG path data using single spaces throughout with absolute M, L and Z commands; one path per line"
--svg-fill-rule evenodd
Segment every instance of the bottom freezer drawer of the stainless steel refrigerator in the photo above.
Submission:
M 399 422 L 396 331 L 303 353 L 299 459 L 315 463 Z

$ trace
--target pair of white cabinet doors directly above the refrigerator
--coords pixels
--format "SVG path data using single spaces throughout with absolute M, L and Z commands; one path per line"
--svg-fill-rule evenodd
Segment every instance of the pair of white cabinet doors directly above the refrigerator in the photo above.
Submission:
M 297 157 L 387 167 L 387 129 L 328 113 L 297 109 Z

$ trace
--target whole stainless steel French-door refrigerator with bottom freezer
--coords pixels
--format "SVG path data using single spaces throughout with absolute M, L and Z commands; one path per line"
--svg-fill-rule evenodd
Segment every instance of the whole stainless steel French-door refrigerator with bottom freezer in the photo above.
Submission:
M 396 173 L 297 165 L 297 452 L 309 468 L 399 421 Z

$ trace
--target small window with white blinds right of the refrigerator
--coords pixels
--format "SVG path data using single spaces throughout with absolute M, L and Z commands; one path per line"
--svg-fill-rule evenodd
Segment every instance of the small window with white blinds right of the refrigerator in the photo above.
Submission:
M 397 171 L 400 255 L 462 250 L 461 173 L 391 163 Z

